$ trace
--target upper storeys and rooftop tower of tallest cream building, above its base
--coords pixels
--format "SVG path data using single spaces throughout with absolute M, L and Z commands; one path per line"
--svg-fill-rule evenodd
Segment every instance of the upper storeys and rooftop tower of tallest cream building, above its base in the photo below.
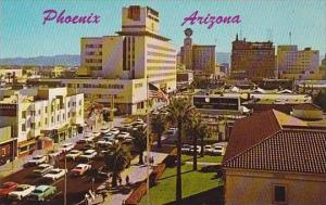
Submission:
M 161 36 L 159 12 L 123 8 L 118 36 L 82 38 L 79 74 L 108 79 L 143 79 L 171 92 L 176 89 L 176 50 Z

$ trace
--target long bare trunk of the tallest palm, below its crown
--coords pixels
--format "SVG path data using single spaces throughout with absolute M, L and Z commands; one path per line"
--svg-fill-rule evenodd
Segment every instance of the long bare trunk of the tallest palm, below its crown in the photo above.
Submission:
M 176 202 L 179 204 L 183 200 L 181 187 L 181 130 L 183 123 L 178 121 L 178 139 L 177 139 L 177 175 L 176 175 Z

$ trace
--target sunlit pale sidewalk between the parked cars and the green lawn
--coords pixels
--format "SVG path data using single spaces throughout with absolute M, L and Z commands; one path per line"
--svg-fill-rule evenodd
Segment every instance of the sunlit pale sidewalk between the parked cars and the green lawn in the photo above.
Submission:
M 156 166 L 158 164 L 160 164 L 164 161 L 164 158 L 167 156 L 167 154 L 151 152 L 150 156 L 153 156 L 153 158 L 154 158 L 153 166 Z M 153 171 L 153 169 L 152 169 L 152 167 L 150 167 L 149 175 L 152 171 Z M 131 166 L 129 168 L 125 169 L 121 174 L 122 179 L 123 179 L 123 184 L 125 184 L 125 178 L 127 175 L 129 176 L 130 183 L 137 183 L 139 181 L 146 180 L 147 174 L 148 174 L 148 167 L 145 165 L 138 165 L 138 156 L 137 156 L 131 161 Z M 102 185 L 100 185 L 100 189 L 101 189 L 101 187 L 105 187 L 104 184 L 105 184 L 105 182 Z M 116 193 L 116 192 L 110 191 L 105 202 L 102 204 L 103 205 L 112 205 L 112 204 L 121 205 L 123 203 L 123 201 L 128 198 L 128 196 L 131 194 L 131 192 L 133 192 L 133 190 L 128 194 L 123 194 L 121 192 Z

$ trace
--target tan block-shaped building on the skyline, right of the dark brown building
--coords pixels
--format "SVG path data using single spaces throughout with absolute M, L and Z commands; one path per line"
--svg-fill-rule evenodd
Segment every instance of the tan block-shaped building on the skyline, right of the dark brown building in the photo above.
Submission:
M 277 69 L 280 78 L 313 79 L 318 75 L 319 51 L 297 46 L 277 47 Z

